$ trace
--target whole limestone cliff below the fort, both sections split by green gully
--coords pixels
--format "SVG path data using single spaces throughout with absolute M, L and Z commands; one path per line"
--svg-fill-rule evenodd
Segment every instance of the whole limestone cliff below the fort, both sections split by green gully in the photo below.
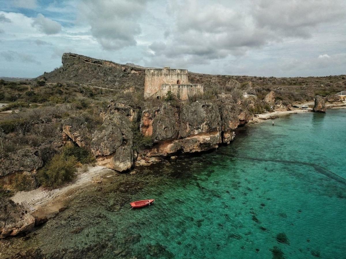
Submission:
M 77 145 L 90 148 L 98 165 L 117 171 L 130 169 L 137 159 L 133 143 L 135 109 L 112 101 L 101 111 L 100 118 L 101 124 L 94 128 L 87 127 L 85 116 L 67 119 L 63 131 Z M 145 161 L 139 164 L 148 164 L 148 160 L 157 161 L 157 157 L 177 152 L 201 152 L 221 143 L 229 144 L 235 136 L 234 130 L 251 118 L 242 105 L 226 99 L 180 106 L 164 102 L 142 112 L 139 134 L 150 137 L 153 146 L 140 152 L 137 160 Z

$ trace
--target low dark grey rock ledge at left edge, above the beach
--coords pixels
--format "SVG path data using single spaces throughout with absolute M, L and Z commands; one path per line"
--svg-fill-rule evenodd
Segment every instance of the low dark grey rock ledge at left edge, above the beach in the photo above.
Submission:
M 0 156 L 0 177 L 15 172 L 36 172 L 43 166 L 40 152 L 34 148 L 25 148 L 9 153 L 9 157 Z

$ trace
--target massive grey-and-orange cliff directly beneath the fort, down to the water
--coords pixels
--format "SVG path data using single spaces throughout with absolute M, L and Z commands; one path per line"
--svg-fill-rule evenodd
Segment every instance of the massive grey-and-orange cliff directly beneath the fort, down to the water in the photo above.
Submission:
M 207 101 L 195 102 L 178 109 L 170 108 L 170 104 L 144 111 L 141 130 L 146 136 L 153 136 L 156 143 L 145 152 L 147 157 L 170 156 L 178 151 L 193 153 L 217 148 L 221 143 L 233 140 L 234 130 L 252 118 L 251 114 L 240 105 L 222 99 L 216 104 Z M 154 127 L 160 113 L 167 112 L 164 121 L 170 128 Z M 179 121 L 177 118 L 179 117 Z M 170 132 L 169 137 L 164 132 Z M 171 134 L 174 132 L 174 134 Z M 165 136 L 157 138 L 155 136 Z M 177 136 L 174 138 L 173 136 Z M 140 158 L 139 158 L 140 159 Z

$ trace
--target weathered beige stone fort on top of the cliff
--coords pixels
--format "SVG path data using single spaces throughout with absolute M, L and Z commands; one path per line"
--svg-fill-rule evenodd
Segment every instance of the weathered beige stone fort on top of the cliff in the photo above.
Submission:
M 180 100 L 188 100 L 196 94 L 203 95 L 203 85 L 189 84 L 187 69 L 145 69 L 144 98 L 162 98 L 169 91 Z

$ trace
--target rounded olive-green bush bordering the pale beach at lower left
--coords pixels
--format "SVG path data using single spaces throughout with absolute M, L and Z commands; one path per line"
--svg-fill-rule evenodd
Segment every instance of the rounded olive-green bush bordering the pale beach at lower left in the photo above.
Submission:
M 40 185 L 47 188 L 58 188 L 75 178 L 77 160 L 70 156 L 67 160 L 63 155 L 53 156 L 42 169 L 37 172 L 37 179 Z

